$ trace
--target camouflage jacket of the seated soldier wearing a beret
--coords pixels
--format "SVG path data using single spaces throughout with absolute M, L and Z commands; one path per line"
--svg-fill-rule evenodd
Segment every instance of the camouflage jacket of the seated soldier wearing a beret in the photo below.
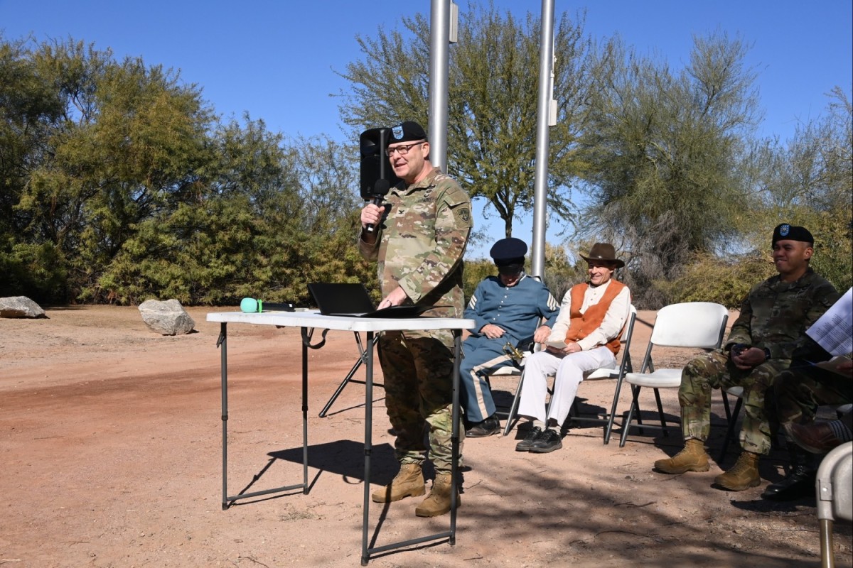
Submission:
M 796 282 L 777 274 L 757 284 L 740 305 L 725 351 L 735 343 L 770 350 L 770 359 L 791 359 L 805 330 L 838 300 L 838 292 L 811 268 Z

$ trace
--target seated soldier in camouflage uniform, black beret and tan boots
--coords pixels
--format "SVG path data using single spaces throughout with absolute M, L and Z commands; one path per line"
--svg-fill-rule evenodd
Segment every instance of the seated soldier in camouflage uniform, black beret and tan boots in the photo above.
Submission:
M 715 482 L 728 491 L 761 483 L 758 456 L 766 456 L 770 450 L 764 394 L 791 364 L 805 330 L 838 298 L 833 285 L 809 267 L 813 246 L 814 238 L 804 227 L 782 224 L 775 228 L 773 260 L 779 274 L 746 295 L 722 349 L 700 355 L 682 370 L 678 402 L 684 449 L 675 457 L 654 462 L 656 469 L 664 473 L 708 471 L 705 440 L 711 430 L 711 392 L 738 385 L 744 389 L 742 452 L 734 467 L 717 475 Z

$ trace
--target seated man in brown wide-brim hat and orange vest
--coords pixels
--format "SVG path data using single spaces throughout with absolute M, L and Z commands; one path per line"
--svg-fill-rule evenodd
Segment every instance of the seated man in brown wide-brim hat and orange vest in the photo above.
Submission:
M 569 416 L 583 373 L 616 364 L 631 294 L 613 273 L 625 263 L 608 243 L 595 243 L 581 258 L 587 261 L 589 280 L 566 292 L 545 350 L 533 353 L 525 363 L 519 416 L 531 424 L 515 446 L 518 451 L 543 454 L 563 447 L 560 427 Z M 555 378 L 546 407 L 548 376 Z

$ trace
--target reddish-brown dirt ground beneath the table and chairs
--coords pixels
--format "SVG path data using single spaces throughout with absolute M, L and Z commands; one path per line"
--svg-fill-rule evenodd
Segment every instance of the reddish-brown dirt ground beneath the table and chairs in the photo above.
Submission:
M 196 333 L 159 336 L 136 307 L 64 307 L 48 318 L 0 319 L 0 565 L 3 568 L 357 566 L 363 519 L 364 387 L 345 387 L 353 336 L 329 332 L 310 351 L 310 492 L 222 508 L 219 324 L 189 308 Z M 635 334 L 641 361 L 653 313 Z M 690 353 L 665 353 L 658 366 Z M 302 481 L 299 331 L 229 325 L 229 494 Z M 378 365 L 377 365 L 378 369 Z M 363 377 L 363 375 L 359 375 Z M 379 377 L 380 379 L 380 377 Z M 508 403 L 514 382 L 493 383 Z M 612 382 L 584 382 L 582 410 L 603 410 Z M 627 390 L 627 389 L 626 389 Z M 676 393 L 663 393 L 673 418 Z M 651 393 L 641 399 L 653 407 Z M 620 409 L 630 400 L 623 393 Z M 722 404 L 714 407 L 722 423 Z M 649 416 L 651 418 L 651 416 Z M 373 474 L 396 472 L 383 391 L 373 393 Z M 722 426 L 709 441 L 717 454 Z M 656 436 L 656 437 L 655 437 Z M 720 469 L 670 476 L 652 462 L 680 449 L 639 433 L 624 448 L 599 426 L 572 427 L 563 449 L 532 455 L 507 437 L 468 439 L 456 545 L 445 540 L 376 554 L 388 566 L 818 566 L 813 499 L 760 498 L 782 478 L 785 451 L 764 459 L 761 486 L 711 486 Z M 734 447 L 723 466 L 735 459 Z M 419 498 L 369 509 L 372 546 L 449 529 L 415 517 Z M 850 566 L 849 525 L 835 558 Z

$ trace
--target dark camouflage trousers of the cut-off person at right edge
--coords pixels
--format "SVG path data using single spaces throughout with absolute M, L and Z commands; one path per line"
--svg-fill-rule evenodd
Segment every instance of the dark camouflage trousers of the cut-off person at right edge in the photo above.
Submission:
M 797 361 L 776 377 L 773 384 L 775 416 L 781 426 L 791 422 L 808 423 L 815 420 L 821 404 L 853 402 L 853 381 L 832 371 Z

